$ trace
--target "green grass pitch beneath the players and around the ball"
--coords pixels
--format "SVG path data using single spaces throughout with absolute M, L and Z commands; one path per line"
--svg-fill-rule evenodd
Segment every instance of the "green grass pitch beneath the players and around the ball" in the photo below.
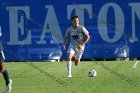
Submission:
M 9 62 L 5 66 L 13 80 L 11 93 L 140 93 L 140 63 L 135 61 L 82 61 L 72 66 L 67 78 L 65 62 Z M 95 69 L 97 77 L 88 77 Z M 0 75 L 0 93 L 5 83 Z

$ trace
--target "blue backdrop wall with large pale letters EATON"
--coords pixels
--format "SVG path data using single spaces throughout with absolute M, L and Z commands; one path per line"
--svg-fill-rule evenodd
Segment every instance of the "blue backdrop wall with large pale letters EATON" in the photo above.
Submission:
M 83 59 L 140 57 L 140 0 L 1 0 L 6 60 L 47 60 L 53 52 L 65 59 L 61 45 L 75 14 L 91 36 Z

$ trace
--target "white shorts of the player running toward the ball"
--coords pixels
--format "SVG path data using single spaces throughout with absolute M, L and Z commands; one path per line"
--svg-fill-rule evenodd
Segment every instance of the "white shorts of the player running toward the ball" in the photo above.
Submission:
M 79 49 L 77 47 L 69 46 L 67 53 L 74 54 L 75 59 L 80 60 L 84 52 L 83 49 Z

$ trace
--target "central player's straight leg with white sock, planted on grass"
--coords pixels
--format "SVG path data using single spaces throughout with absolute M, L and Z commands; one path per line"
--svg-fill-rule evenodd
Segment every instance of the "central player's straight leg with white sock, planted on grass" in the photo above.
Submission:
M 68 77 L 72 77 L 71 75 L 71 67 L 72 67 L 72 57 L 74 55 L 74 50 L 72 47 L 69 47 L 67 52 L 67 70 L 68 70 Z

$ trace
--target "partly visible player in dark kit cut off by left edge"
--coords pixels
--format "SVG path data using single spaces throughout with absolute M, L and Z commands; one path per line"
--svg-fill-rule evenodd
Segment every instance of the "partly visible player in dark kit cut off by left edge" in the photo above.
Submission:
M 2 35 L 2 31 L 1 31 L 1 27 L 0 27 L 0 37 Z M 4 66 L 4 60 L 5 60 L 5 56 L 3 53 L 3 47 L 0 41 L 0 72 L 2 73 L 5 82 L 6 82 L 6 93 L 10 93 L 11 91 L 11 85 L 12 85 L 12 80 L 9 78 L 9 74 L 7 69 Z

